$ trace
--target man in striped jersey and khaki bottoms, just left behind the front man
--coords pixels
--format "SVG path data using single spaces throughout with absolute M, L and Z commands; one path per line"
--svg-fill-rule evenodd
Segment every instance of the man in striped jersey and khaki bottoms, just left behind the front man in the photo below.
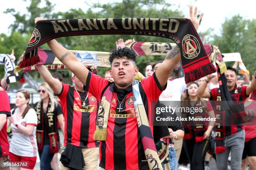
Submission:
M 71 86 L 52 77 L 43 65 L 37 65 L 37 68 L 54 93 L 58 95 L 65 118 L 64 146 L 66 148 L 61 154 L 61 163 L 64 165 L 61 165 L 61 169 L 67 169 L 66 167 L 97 169 L 99 145 L 93 140 L 99 104 L 97 99 L 90 92 L 83 90 L 82 82 L 73 74 L 71 79 L 74 86 Z M 74 154 L 69 158 L 69 153 Z

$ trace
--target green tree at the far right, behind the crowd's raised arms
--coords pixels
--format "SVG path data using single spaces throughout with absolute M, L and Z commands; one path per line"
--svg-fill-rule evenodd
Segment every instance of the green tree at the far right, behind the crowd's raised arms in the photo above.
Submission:
M 226 19 L 222 24 L 220 35 L 214 35 L 212 45 L 219 47 L 220 52 L 239 52 L 246 68 L 254 73 L 255 44 L 256 44 L 256 20 L 245 20 L 240 15 Z M 228 65 L 233 63 L 228 62 Z

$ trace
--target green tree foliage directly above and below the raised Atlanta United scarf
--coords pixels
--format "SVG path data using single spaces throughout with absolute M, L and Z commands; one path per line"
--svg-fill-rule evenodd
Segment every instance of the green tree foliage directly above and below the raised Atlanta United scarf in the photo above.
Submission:
M 69 10 L 64 13 L 55 13 L 54 18 L 183 18 L 178 10 L 170 10 L 171 5 L 164 0 L 123 0 L 122 2 L 108 4 L 93 4 L 89 10 Z M 79 37 L 63 37 L 58 41 L 72 50 L 110 51 L 115 48 L 115 41 L 119 38 L 135 39 L 144 42 L 170 42 L 168 39 L 150 36 L 134 35 L 90 35 Z M 147 62 L 163 60 L 165 56 L 139 56 L 137 65 L 144 72 Z M 99 75 L 104 75 L 105 70 L 98 69 Z

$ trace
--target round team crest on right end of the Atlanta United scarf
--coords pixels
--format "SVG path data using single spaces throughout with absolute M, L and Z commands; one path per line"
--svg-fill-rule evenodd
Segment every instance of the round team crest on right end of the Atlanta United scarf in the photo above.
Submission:
M 200 52 L 199 41 L 193 36 L 187 34 L 182 40 L 182 52 L 183 56 L 187 59 L 192 59 L 197 57 Z

